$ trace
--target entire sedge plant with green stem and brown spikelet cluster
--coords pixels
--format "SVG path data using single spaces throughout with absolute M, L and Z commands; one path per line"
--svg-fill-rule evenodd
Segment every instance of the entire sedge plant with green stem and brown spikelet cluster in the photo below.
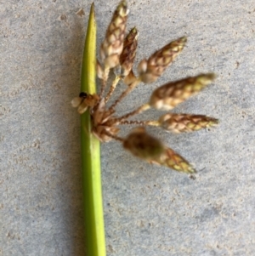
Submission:
M 199 74 L 178 81 L 167 82 L 156 88 L 150 100 L 131 112 L 118 117 L 116 106 L 136 88 L 139 83 L 151 83 L 161 77 L 184 49 L 186 37 L 180 37 L 139 62 L 137 71 L 133 63 L 138 47 L 139 32 L 133 27 L 127 34 L 127 2 L 117 6 L 100 45 L 99 60 L 95 57 L 94 5 L 88 23 L 87 38 L 82 63 L 81 94 L 71 101 L 82 116 L 82 169 L 85 200 L 85 225 L 88 256 L 105 255 L 105 234 L 100 179 L 99 142 L 112 139 L 120 142 L 124 149 L 149 163 L 156 163 L 178 172 L 194 174 L 195 168 L 164 145 L 159 139 L 146 132 L 146 126 L 156 126 L 172 133 L 184 133 L 210 128 L 218 120 L 204 115 L 172 113 L 173 108 L 199 93 L 214 79 L 214 74 Z M 110 71 L 115 78 L 110 82 Z M 96 92 L 95 77 L 100 80 Z M 116 100 L 108 105 L 116 86 L 124 82 L 127 87 Z M 134 120 L 133 116 L 154 108 L 167 111 L 157 120 Z M 126 137 L 118 135 L 122 125 L 133 125 Z

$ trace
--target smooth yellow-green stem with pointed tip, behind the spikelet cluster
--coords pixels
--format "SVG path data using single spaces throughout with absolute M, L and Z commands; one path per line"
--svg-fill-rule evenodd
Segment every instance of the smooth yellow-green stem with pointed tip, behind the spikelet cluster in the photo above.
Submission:
M 96 93 L 96 23 L 91 5 L 82 60 L 81 91 Z M 100 172 L 100 144 L 91 134 L 89 111 L 82 114 L 83 205 L 86 233 L 86 255 L 105 256 L 105 227 Z

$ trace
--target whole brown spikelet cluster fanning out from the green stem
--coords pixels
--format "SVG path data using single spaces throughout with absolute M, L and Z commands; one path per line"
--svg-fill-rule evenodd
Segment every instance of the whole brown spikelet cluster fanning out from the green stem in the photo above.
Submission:
M 150 108 L 164 111 L 172 110 L 176 105 L 205 88 L 212 82 L 214 75 L 211 73 L 200 74 L 196 77 L 186 77 L 175 82 L 167 82 L 156 88 L 148 103 L 140 105 L 139 108 L 122 117 L 116 117 L 116 105 L 140 82 L 155 82 L 158 77 L 161 77 L 167 66 L 183 50 L 187 41 L 186 37 L 178 38 L 157 50 L 149 59 L 141 60 L 138 65 L 138 76 L 136 77 L 133 73 L 133 61 L 136 55 L 139 33 L 133 27 L 125 37 L 127 14 L 127 3 L 122 1 L 113 14 L 106 31 L 105 40 L 101 44 L 100 62 L 99 60 L 97 62 L 97 75 L 102 82 L 100 93 L 92 95 L 82 92 L 79 97 L 71 101 L 71 104 L 77 107 L 80 114 L 89 111 L 93 123 L 91 132 L 100 141 L 106 142 L 116 139 L 122 143 L 127 151 L 147 162 L 193 174 L 195 169 L 189 162 L 166 145 L 163 145 L 160 140 L 147 134 L 144 127 L 159 126 L 173 133 L 192 132 L 215 126 L 218 124 L 217 119 L 171 112 L 162 115 L 155 121 L 136 121 L 129 118 Z M 111 83 L 108 93 L 105 94 L 111 69 L 115 72 L 116 77 Z M 112 105 L 107 107 L 107 101 L 114 92 L 117 83 L 121 80 L 127 84 L 126 90 Z M 126 138 L 121 138 L 117 135 L 120 130 L 118 126 L 124 124 L 133 124 L 138 127 L 134 128 Z

